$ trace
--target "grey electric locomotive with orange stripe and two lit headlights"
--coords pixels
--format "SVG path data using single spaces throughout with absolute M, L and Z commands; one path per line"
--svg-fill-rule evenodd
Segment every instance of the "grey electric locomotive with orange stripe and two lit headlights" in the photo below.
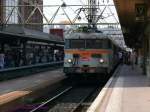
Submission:
M 65 38 L 64 73 L 109 74 L 118 63 L 118 47 L 102 32 L 73 32 Z

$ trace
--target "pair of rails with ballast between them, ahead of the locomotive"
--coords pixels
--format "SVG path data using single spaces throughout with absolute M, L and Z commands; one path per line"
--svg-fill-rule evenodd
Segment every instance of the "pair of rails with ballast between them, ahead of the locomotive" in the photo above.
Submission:
M 30 112 L 79 112 L 90 106 L 85 101 L 95 90 L 96 87 L 69 87 Z

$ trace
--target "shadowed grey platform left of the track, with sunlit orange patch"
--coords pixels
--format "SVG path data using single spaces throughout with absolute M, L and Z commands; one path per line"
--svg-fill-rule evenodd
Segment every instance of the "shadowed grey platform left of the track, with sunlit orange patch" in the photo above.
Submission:
M 0 82 L 0 112 L 7 112 L 26 97 L 65 79 L 62 69 Z M 42 93 L 42 91 L 41 91 Z

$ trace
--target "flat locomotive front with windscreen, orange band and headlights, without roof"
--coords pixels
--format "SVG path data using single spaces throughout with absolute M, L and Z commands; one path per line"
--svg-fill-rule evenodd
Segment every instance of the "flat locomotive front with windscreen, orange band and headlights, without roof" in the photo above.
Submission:
M 107 73 L 112 57 L 109 39 L 66 39 L 64 73 Z

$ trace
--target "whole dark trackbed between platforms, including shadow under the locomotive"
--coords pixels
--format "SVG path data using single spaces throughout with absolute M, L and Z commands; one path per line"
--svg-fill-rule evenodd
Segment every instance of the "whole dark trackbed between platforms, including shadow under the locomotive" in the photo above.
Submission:
M 11 112 L 85 112 L 109 78 L 96 79 L 67 78 L 61 84 L 63 88 L 56 88 L 55 92 L 44 94 L 35 101 L 25 102 Z

